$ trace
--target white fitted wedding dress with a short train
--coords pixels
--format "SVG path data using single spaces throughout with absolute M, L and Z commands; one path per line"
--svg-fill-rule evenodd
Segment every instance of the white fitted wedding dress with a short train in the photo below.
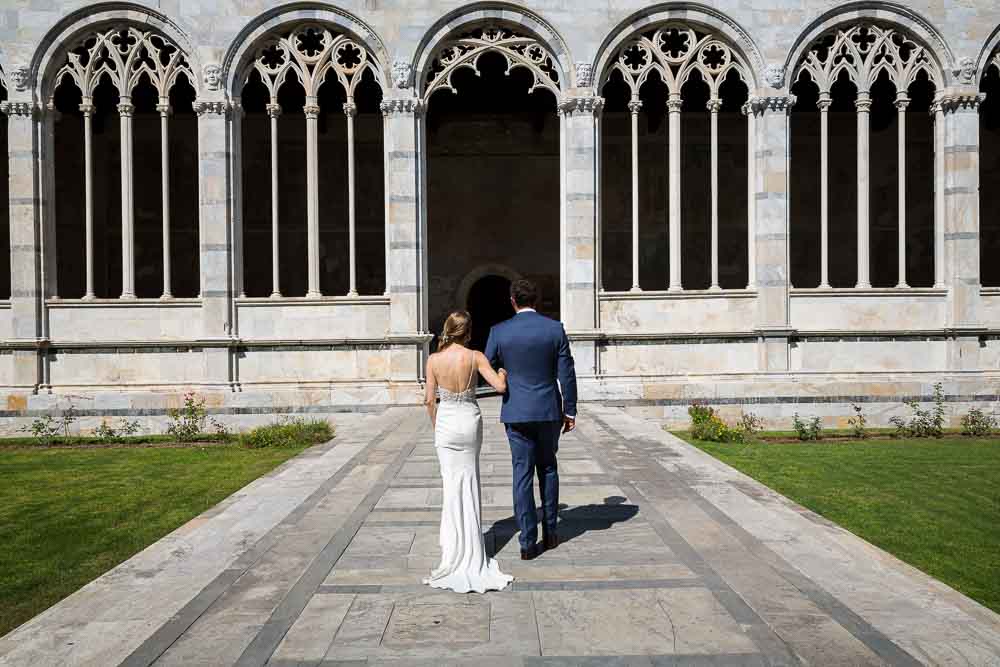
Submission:
M 475 372 L 473 368 L 473 378 Z M 514 577 L 501 572 L 497 562 L 486 556 L 483 540 L 479 487 L 483 416 L 476 389 L 470 379 L 465 391 L 458 393 L 439 387 L 438 397 L 434 448 L 444 483 L 441 564 L 424 583 L 456 593 L 503 590 Z

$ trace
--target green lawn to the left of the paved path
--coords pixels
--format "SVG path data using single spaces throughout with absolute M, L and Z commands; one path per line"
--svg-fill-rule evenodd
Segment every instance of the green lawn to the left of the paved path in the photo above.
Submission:
M 0 451 L 0 636 L 308 445 Z

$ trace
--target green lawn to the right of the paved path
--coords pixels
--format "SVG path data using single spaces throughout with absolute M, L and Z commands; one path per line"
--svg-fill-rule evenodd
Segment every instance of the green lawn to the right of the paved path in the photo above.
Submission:
M 1000 440 L 696 447 L 1000 612 Z

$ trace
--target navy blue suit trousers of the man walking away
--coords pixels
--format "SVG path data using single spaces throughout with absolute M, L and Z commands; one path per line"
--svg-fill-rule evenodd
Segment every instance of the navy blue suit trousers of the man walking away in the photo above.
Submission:
M 559 511 L 559 469 L 556 452 L 562 422 L 520 422 L 504 425 L 514 464 L 514 515 L 521 530 L 522 549 L 538 541 L 538 513 L 535 510 L 535 473 L 542 501 L 542 528 L 555 534 Z

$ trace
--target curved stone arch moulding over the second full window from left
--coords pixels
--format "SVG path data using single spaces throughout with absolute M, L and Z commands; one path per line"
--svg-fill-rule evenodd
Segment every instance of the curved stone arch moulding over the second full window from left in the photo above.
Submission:
M 382 38 L 358 17 L 327 4 L 302 2 L 265 12 L 239 32 L 222 60 L 226 90 L 239 97 L 246 75 L 253 67 L 254 55 L 260 44 L 285 32 L 294 31 L 296 24 L 318 25 L 342 33 L 366 48 L 374 60 L 372 71 L 382 88 L 387 87 L 390 65 L 389 51 Z

